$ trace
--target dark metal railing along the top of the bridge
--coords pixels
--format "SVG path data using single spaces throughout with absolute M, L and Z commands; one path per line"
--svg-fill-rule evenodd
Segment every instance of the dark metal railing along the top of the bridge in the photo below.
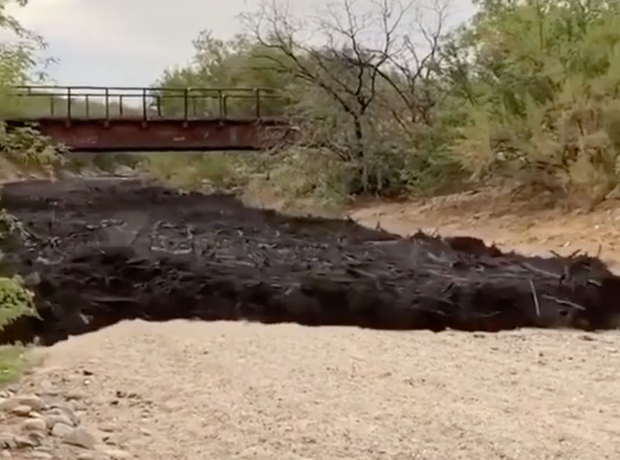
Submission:
M 20 118 L 264 118 L 282 116 L 283 99 L 267 88 L 16 86 Z

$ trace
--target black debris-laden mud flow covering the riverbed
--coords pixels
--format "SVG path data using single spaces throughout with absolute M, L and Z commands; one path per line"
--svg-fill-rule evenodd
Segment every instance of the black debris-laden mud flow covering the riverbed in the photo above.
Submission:
M 2 270 L 30 275 L 42 318 L 4 342 L 136 317 L 498 331 L 610 328 L 620 315 L 620 278 L 592 258 L 400 238 L 136 180 L 21 183 L 2 203 L 29 234 Z

